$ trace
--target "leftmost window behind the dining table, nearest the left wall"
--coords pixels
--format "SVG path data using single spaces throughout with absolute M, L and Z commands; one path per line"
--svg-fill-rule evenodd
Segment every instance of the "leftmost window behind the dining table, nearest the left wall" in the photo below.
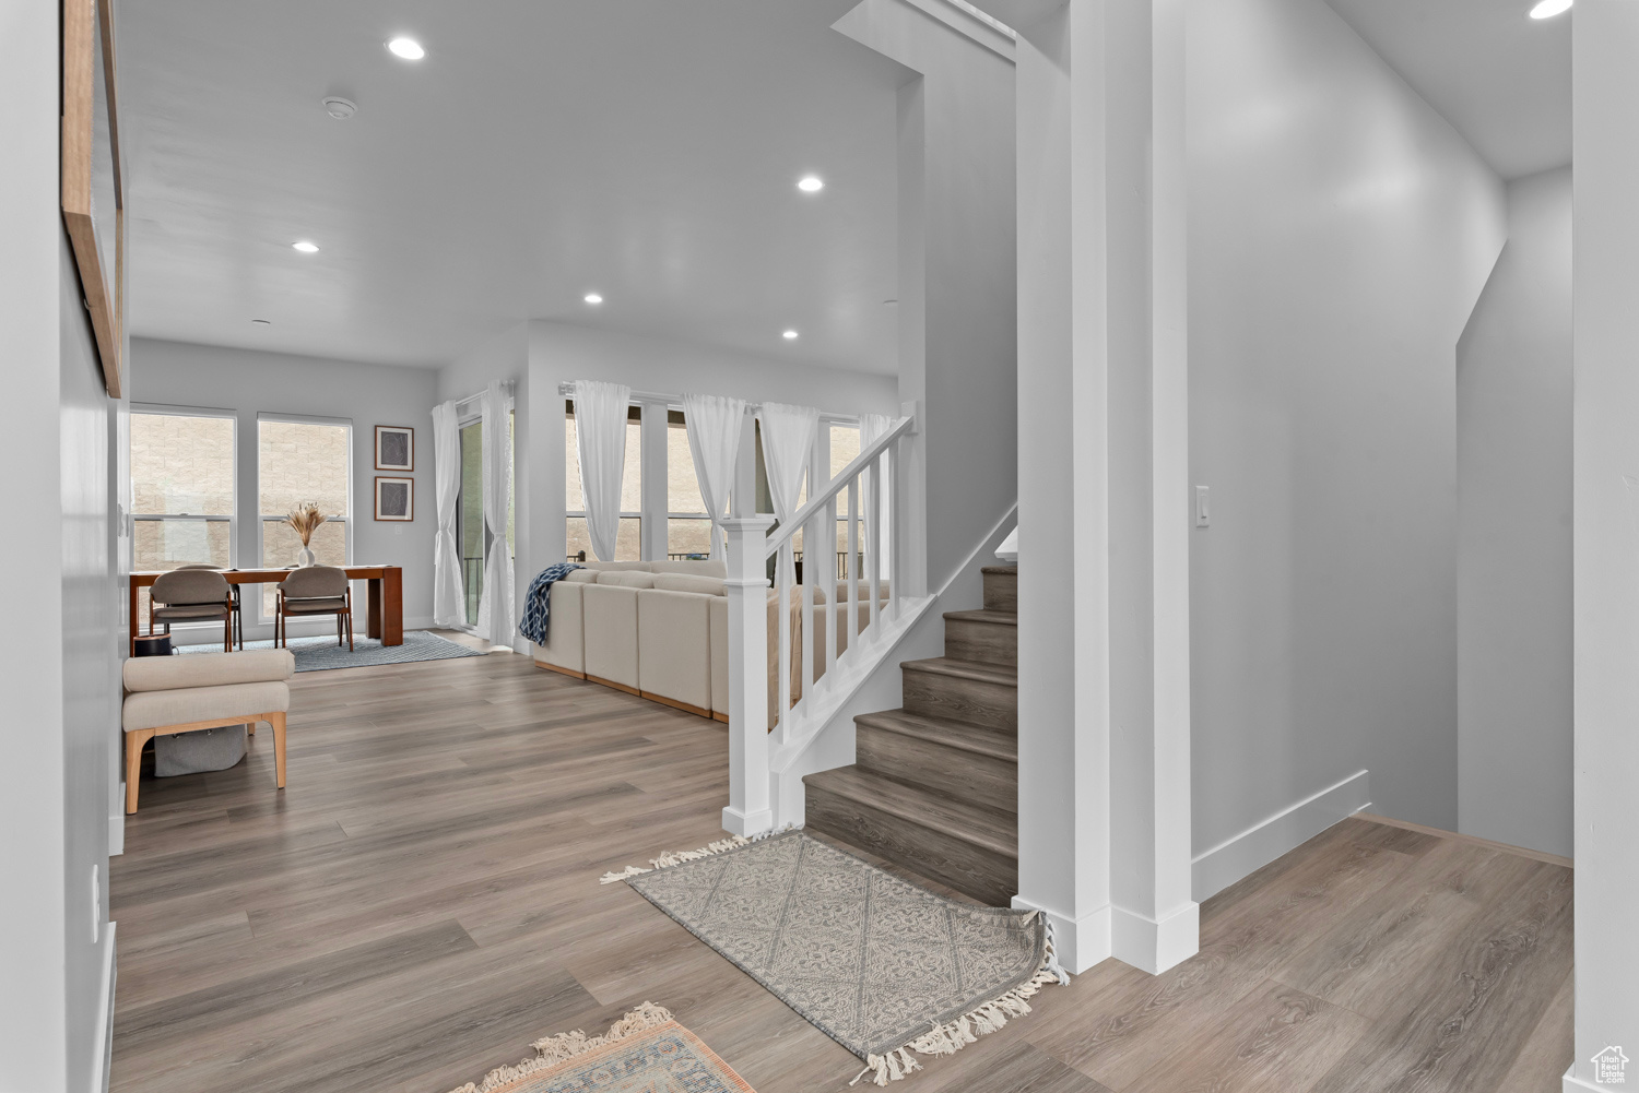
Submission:
M 234 565 L 233 454 L 231 415 L 131 411 L 134 570 Z M 146 596 L 139 610 L 146 626 Z

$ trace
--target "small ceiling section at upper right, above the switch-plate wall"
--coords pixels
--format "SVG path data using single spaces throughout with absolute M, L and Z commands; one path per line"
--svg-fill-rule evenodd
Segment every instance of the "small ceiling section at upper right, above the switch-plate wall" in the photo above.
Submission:
M 1329 0 L 1496 174 L 1570 162 L 1572 13 L 1536 0 Z

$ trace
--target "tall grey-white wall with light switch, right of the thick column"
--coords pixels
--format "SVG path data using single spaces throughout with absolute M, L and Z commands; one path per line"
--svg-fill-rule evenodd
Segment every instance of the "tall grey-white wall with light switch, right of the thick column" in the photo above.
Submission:
M 1451 829 L 1455 346 L 1503 187 L 1321 0 L 1188 20 L 1195 849 L 1362 769 Z

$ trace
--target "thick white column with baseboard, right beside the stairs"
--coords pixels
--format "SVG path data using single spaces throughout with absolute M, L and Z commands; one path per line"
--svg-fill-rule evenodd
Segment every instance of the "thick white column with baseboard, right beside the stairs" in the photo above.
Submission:
M 1198 944 L 1183 8 L 987 7 L 1019 31 L 1018 901 L 1072 968 L 1160 972 Z

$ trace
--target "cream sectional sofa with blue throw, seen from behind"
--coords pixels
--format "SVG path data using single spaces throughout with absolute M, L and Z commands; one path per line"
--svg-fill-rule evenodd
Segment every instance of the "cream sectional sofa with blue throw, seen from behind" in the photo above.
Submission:
M 705 718 L 728 721 L 728 596 L 723 562 L 588 562 L 552 585 L 547 644 L 534 662 L 595 683 L 642 695 Z M 839 590 L 842 598 L 846 590 Z M 885 590 L 883 590 L 885 592 Z M 824 628 L 836 613 L 815 593 L 815 678 L 824 673 Z M 792 700 L 801 693 L 800 592 L 792 628 Z M 864 616 L 865 611 L 862 610 Z M 779 706 L 779 611 L 769 592 L 769 723 Z M 862 619 L 864 624 L 864 619 Z M 838 634 L 838 652 L 847 633 Z

